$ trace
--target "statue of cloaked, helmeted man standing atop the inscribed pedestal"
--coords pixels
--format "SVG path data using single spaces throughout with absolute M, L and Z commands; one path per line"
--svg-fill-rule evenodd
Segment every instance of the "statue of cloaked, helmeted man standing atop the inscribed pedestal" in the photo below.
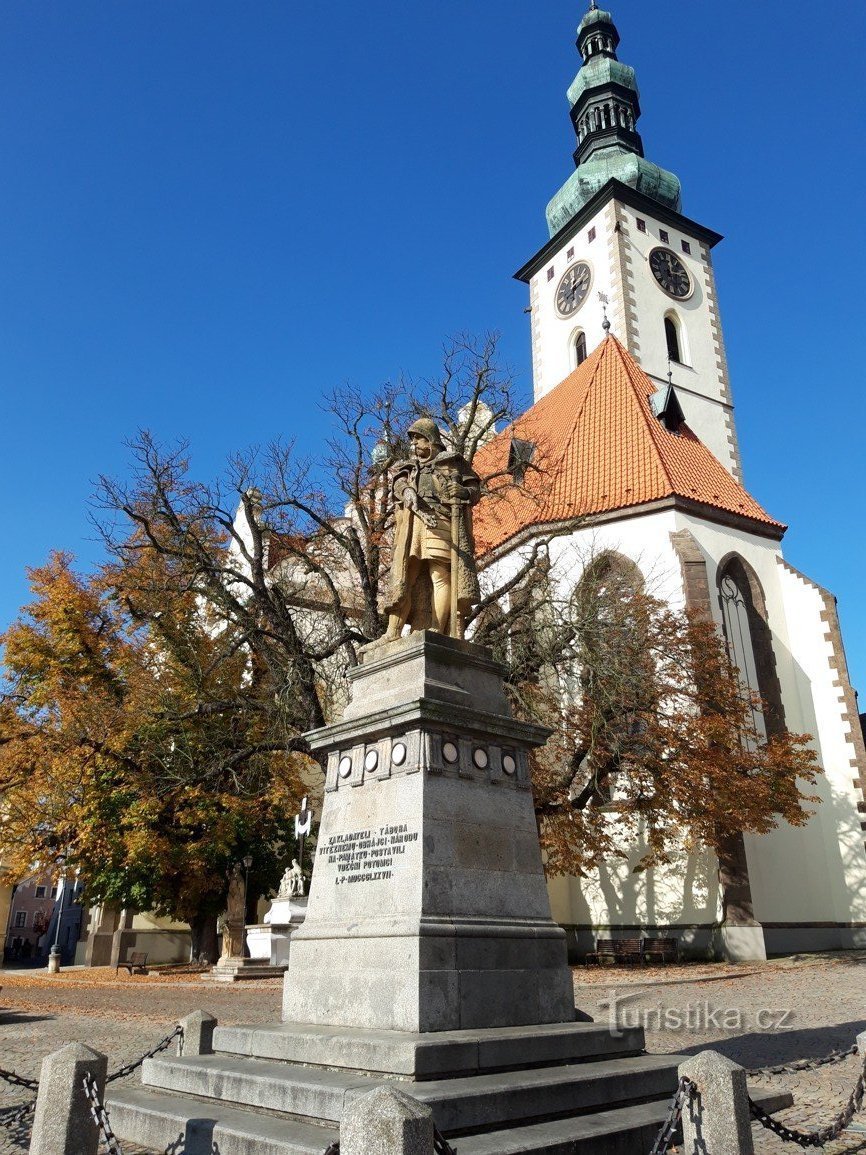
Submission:
M 436 629 L 462 638 L 465 616 L 479 601 L 472 506 L 480 479 L 458 453 L 445 447 L 435 422 L 409 429 L 410 461 L 394 476 L 396 517 L 386 638 Z

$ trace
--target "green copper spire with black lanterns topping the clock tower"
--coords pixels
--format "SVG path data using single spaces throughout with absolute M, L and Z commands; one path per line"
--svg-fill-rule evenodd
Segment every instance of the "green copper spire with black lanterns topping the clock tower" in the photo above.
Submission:
M 547 206 L 551 237 L 612 178 L 680 210 L 677 177 L 643 156 L 643 141 L 636 128 L 641 116 L 637 81 L 634 68 L 617 59 L 618 45 L 613 17 L 592 0 L 577 29 L 583 65 L 568 89 L 572 124 L 577 135 L 576 172 Z

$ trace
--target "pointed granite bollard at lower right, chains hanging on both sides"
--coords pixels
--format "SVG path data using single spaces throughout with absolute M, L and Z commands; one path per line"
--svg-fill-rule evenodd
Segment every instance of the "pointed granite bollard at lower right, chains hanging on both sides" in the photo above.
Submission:
M 684 1155 L 754 1155 L 744 1068 L 718 1051 L 701 1051 L 679 1074 L 697 1088 L 682 1111 Z

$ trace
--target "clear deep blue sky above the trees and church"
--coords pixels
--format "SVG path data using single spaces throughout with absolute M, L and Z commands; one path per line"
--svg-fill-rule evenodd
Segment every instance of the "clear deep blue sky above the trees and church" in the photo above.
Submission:
M 572 169 L 587 5 L 3 0 L 0 627 L 24 568 L 98 558 L 97 474 L 187 437 L 201 476 L 318 396 L 435 370 L 498 329 L 529 403 L 525 289 Z M 647 155 L 725 240 L 746 484 L 785 554 L 861 596 L 866 5 L 617 0 Z

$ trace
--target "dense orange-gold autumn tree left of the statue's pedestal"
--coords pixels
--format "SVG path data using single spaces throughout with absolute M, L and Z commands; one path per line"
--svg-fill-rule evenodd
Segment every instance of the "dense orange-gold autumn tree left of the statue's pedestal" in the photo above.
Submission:
M 297 755 L 237 634 L 189 595 L 144 614 L 120 579 L 54 556 L 3 638 L 5 859 L 62 852 L 91 900 L 185 919 L 212 956 L 231 865 L 253 854 L 253 888 L 279 875 Z

